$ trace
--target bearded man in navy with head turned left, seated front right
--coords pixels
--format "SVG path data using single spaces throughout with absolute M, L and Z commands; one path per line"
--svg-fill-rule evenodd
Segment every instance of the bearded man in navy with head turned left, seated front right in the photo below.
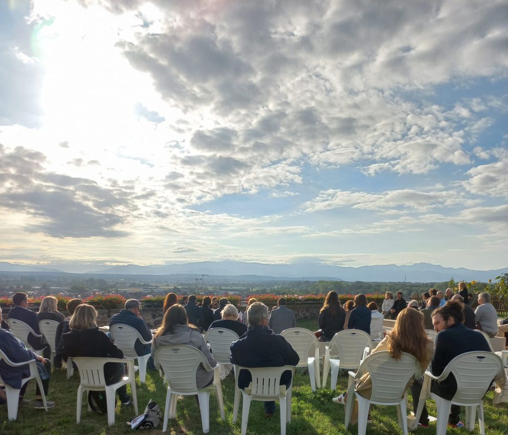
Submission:
M 485 337 L 478 332 L 466 328 L 463 325 L 464 313 L 462 305 L 457 300 L 450 300 L 443 307 L 434 311 L 432 322 L 434 329 L 438 332 L 434 339 L 434 356 L 432 357 L 431 372 L 434 376 L 439 376 L 448 363 L 456 356 L 466 352 L 486 351 L 490 352 L 489 344 Z M 430 390 L 447 400 L 451 400 L 457 392 L 457 381 L 453 374 L 450 374 L 445 380 L 435 382 L 432 380 Z M 422 383 L 415 382 L 411 387 L 414 409 L 418 408 L 418 400 L 422 391 Z M 428 427 L 428 413 L 424 406 L 420 423 Z M 460 421 L 460 406 L 452 405 L 450 416 L 448 417 L 450 427 L 463 427 L 464 423 Z

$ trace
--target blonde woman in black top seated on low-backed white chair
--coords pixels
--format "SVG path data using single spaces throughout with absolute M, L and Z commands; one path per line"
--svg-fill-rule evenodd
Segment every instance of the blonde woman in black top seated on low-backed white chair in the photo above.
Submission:
M 62 335 L 63 358 L 77 356 L 93 358 L 123 358 L 123 352 L 118 349 L 109 337 L 99 330 L 97 311 L 91 305 L 81 304 L 76 307 L 69 326 L 71 331 Z M 106 385 L 119 382 L 125 375 L 123 363 L 107 362 L 104 364 L 104 379 Z M 131 403 L 131 396 L 127 394 L 127 387 L 122 385 L 116 390 L 122 405 Z

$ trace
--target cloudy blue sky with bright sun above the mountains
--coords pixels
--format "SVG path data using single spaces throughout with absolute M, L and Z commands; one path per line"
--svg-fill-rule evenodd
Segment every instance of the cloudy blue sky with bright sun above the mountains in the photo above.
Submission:
M 0 2 L 0 261 L 508 265 L 508 1 Z

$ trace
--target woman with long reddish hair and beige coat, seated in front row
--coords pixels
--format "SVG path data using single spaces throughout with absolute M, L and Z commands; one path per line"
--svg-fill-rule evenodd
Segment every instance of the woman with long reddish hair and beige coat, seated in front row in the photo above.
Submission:
M 432 357 L 432 347 L 432 342 L 427 338 L 427 334 L 423 329 L 422 314 L 418 310 L 404 309 L 397 316 L 392 331 L 376 346 L 372 353 L 387 350 L 390 352 L 390 356 L 395 359 L 399 359 L 402 352 L 414 356 L 417 359 L 417 368 L 419 369 L 416 377 L 419 378 L 429 365 Z M 368 373 L 365 373 L 356 381 L 356 390 L 362 397 L 370 398 L 372 380 Z M 334 397 L 332 400 L 338 404 L 345 404 L 346 393 Z M 370 419 L 369 417 L 368 419 Z M 355 424 L 357 420 L 358 405 L 355 403 L 350 422 Z

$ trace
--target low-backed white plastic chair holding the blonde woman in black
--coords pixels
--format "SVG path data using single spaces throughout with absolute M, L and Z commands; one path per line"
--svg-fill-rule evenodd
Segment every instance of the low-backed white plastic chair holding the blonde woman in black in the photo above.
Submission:
M 81 378 L 78 387 L 78 399 L 76 405 L 76 422 L 81 420 L 81 404 L 83 400 L 83 392 L 86 391 L 106 391 L 106 403 L 108 406 L 108 425 L 115 424 L 115 393 L 122 385 L 131 385 L 131 400 L 134 403 L 134 412 L 138 414 L 138 399 L 136 396 L 136 381 L 134 378 L 134 360 L 124 358 L 91 358 L 76 356 L 73 361 L 78 367 L 79 376 Z M 121 381 L 111 385 L 106 385 L 104 378 L 104 364 L 107 362 L 115 362 L 127 364 L 128 376 L 124 376 Z M 72 364 L 72 361 L 71 361 Z M 88 407 L 88 409 L 90 409 Z

